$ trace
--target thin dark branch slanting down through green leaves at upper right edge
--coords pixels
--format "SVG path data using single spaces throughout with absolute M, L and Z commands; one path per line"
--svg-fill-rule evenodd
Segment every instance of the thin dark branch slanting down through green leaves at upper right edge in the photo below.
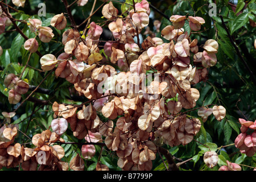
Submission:
M 243 59 L 240 50 L 238 49 L 238 47 L 236 46 L 236 44 L 234 43 L 234 40 L 232 39 L 232 36 L 229 33 L 228 27 L 226 27 L 226 24 L 223 20 L 222 15 L 220 15 L 220 19 L 221 19 L 221 23 L 223 25 L 223 27 L 225 28 L 226 33 L 228 34 L 229 40 L 232 43 L 232 46 L 234 47 L 234 49 L 237 52 L 238 57 L 240 58 L 240 60 L 243 62 L 243 64 L 245 65 L 245 68 L 247 69 L 247 71 L 250 73 L 251 76 L 251 80 L 253 81 L 254 85 L 256 85 L 256 79 L 255 76 L 253 74 L 253 72 L 251 71 L 250 67 L 247 65 L 246 61 Z

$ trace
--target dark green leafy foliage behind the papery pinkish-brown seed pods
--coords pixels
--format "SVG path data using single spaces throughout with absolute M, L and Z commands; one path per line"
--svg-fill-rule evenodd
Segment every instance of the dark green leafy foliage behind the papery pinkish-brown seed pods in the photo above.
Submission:
M 69 4 L 72 1 L 68 1 Z M 121 12 L 122 6 L 120 2 L 132 3 L 131 0 L 126 1 L 113 1 L 115 7 Z M 135 1 L 136 2 L 136 1 Z M 245 64 L 238 57 L 236 50 L 234 49 L 229 37 L 222 26 L 220 15 L 224 17 L 226 26 L 229 31 L 232 32 L 232 39 L 236 42 L 236 45 L 241 52 L 243 59 L 245 59 L 246 64 L 255 76 L 255 64 L 256 64 L 256 50 L 254 48 L 254 40 L 256 39 L 255 27 L 251 27 L 249 19 L 253 19 L 256 22 L 256 4 L 254 1 L 238 1 L 234 3 L 233 1 L 214 1 L 217 5 L 217 16 L 210 17 L 209 3 L 212 1 L 204 0 L 191 0 L 191 1 L 153 1 L 149 0 L 152 6 L 156 7 L 159 11 L 166 14 L 168 17 L 171 15 L 196 15 L 201 16 L 205 19 L 205 24 L 203 28 L 205 31 L 200 32 L 200 34 L 193 34 L 193 39 L 197 38 L 199 40 L 199 45 L 204 44 L 207 39 L 217 40 L 219 44 L 219 49 L 217 53 L 217 65 L 210 68 L 209 80 L 197 85 L 194 85 L 200 91 L 200 99 L 197 101 L 197 106 L 200 107 L 208 104 L 218 104 L 223 105 L 226 108 L 226 117 L 218 122 L 214 119 L 214 116 L 208 118 L 208 121 L 204 123 L 201 131 L 196 136 L 198 142 L 192 141 L 186 146 L 169 147 L 168 150 L 172 155 L 175 156 L 176 162 L 181 162 L 187 159 L 189 162 L 183 164 L 181 170 L 217 170 L 220 166 L 225 165 L 225 161 L 229 160 L 238 164 L 243 164 L 251 167 L 256 167 L 256 158 L 247 157 L 241 154 L 240 151 L 232 145 L 234 139 L 240 133 L 240 124 L 238 123 L 238 118 L 247 118 L 249 121 L 255 121 L 256 119 L 256 104 L 255 104 L 255 82 L 253 82 L 253 77 L 249 74 L 246 69 Z M 7 3 L 11 6 L 13 4 L 10 0 Z M 39 17 L 38 4 L 46 3 L 46 17 Z M 96 3 L 96 8 L 102 4 L 102 1 L 98 0 Z M 84 19 L 89 16 L 90 10 L 92 9 L 93 1 L 89 0 L 88 3 L 83 7 L 78 7 L 77 5 L 72 6 L 72 14 L 76 20 L 77 24 L 80 24 Z M 65 7 L 63 3 L 58 1 L 42 1 L 42 0 L 29 0 L 26 1 L 25 7 L 15 7 L 19 10 L 19 13 L 13 13 L 12 15 L 19 20 L 27 20 L 28 18 L 38 18 L 43 22 L 43 26 L 50 26 L 50 21 L 53 15 L 65 12 Z M 104 21 L 101 18 L 101 10 L 92 16 L 91 22 L 96 23 Z M 154 20 L 160 20 L 162 23 L 160 26 L 160 31 L 163 27 L 171 24 L 171 22 L 164 18 L 163 15 L 151 9 L 150 24 L 149 27 L 151 31 L 154 31 L 156 36 L 161 38 L 160 33 L 156 32 L 153 28 Z M 68 21 L 69 22 L 69 21 Z M 34 38 L 34 34 L 29 31 L 26 24 L 18 22 L 18 26 L 24 32 L 28 38 Z M 84 25 L 85 26 L 85 25 Z M 81 26 L 81 30 L 85 28 Z M 63 50 L 63 44 L 61 44 L 62 34 L 69 27 L 67 26 L 64 30 L 53 29 L 55 34 L 54 38 L 50 43 L 39 43 L 39 52 L 42 55 L 47 53 L 52 53 L 53 55 L 59 55 L 60 51 Z M 18 34 L 18 32 L 10 31 L 14 27 L 7 27 L 7 32 L 0 35 L 0 46 L 3 48 L 3 54 L 0 57 L 0 111 L 13 111 L 17 105 L 10 105 L 8 102 L 8 93 L 5 92 L 5 86 L 3 80 L 7 73 L 19 74 L 23 70 L 23 66 L 26 64 L 29 53 L 24 49 L 24 39 Z M 189 31 L 188 23 L 185 23 L 184 29 Z M 143 35 L 146 38 L 147 35 Z M 108 27 L 104 27 L 104 32 L 101 36 L 101 40 L 111 39 L 111 32 L 108 31 Z M 163 39 L 164 40 L 164 39 Z M 100 43 L 103 46 L 104 43 Z M 200 51 L 200 50 L 199 50 Z M 46 73 L 39 72 L 40 69 L 39 56 L 36 53 L 32 54 L 30 60 L 30 66 L 26 68 L 23 74 L 23 79 L 27 78 L 30 85 L 37 86 L 40 81 L 46 76 Z M 33 68 L 32 68 L 33 67 Z M 35 68 L 35 69 L 34 69 Z M 53 113 L 51 111 L 51 104 L 54 101 L 58 103 L 72 103 L 81 104 L 86 101 L 86 98 L 75 97 L 74 89 L 72 89 L 72 84 L 68 81 L 63 80 L 63 78 L 55 78 L 54 75 L 47 77 L 46 81 L 40 86 L 40 88 L 47 89 L 47 94 L 36 92 L 33 97 L 39 100 L 49 100 L 49 105 L 42 105 L 38 102 L 26 101 L 23 107 L 16 111 L 16 115 L 12 118 L 13 123 L 18 123 L 20 130 L 27 134 L 28 137 L 36 133 L 40 133 L 42 128 L 48 128 L 51 125 L 53 119 Z M 23 99 L 27 96 L 22 96 Z M 75 100 L 70 100 L 70 98 L 75 98 Z M 239 109 L 238 109 L 239 108 Z M 241 114 L 241 111 L 243 114 Z M 35 112 L 36 111 L 36 112 Z M 31 113 L 34 113 L 31 115 Z M 190 115 L 197 115 L 197 111 L 191 111 Z M 245 118 L 245 119 L 246 119 Z M 0 124 L 3 122 L 2 115 L 0 116 Z M 19 133 L 19 137 L 16 137 L 21 143 L 29 142 L 26 137 L 23 137 Z M 69 142 L 80 142 L 78 139 L 73 137 L 72 131 L 67 130 L 63 138 L 65 141 Z M 213 169 L 205 166 L 203 162 L 203 154 L 207 150 L 206 147 L 200 143 L 207 143 L 210 148 L 214 148 L 218 151 L 219 162 Z M 228 146 L 230 145 L 230 146 Z M 227 146 L 227 147 L 222 147 Z M 167 146 L 165 146 L 167 147 Z M 81 146 L 68 145 L 63 146 L 65 150 L 65 158 L 69 162 L 75 155 L 74 152 L 80 152 Z M 96 162 L 98 155 L 100 153 L 100 147 L 96 146 L 96 155 L 87 160 L 85 163 L 86 170 L 93 170 L 96 167 Z M 117 157 L 114 153 L 104 150 L 101 157 L 101 162 L 106 164 L 110 170 L 120 170 L 117 167 Z M 17 169 L 17 168 L 16 168 Z M 165 167 L 160 159 L 159 155 L 153 161 L 154 170 L 165 170 Z M 251 170 L 251 168 L 242 166 L 243 170 Z M 15 170 L 6 169 L 2 170 Z

